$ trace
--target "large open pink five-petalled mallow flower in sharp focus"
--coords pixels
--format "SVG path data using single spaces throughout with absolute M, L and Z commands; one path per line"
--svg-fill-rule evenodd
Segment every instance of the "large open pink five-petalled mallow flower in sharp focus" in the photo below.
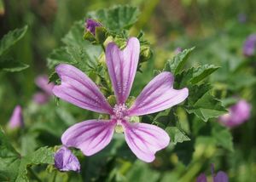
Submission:
M 137 71 L 140 43 L 131 37 L 124 50 L 108 43 L 106 62 L 113 85 L 116 104 L 112 107 L 94 82 L 73 65 L 57 65 L 55 71 L 61 85 L 53 88 L 55 96 L 90 111 L 108 114 L 108 120 L 96 119 L 74 124 L 61 136 L 67 147 L 79 148 L 85 156 L 101 151 L 109 144 L 115 128 L 122 128 L 131 151 L 144 162 L 154 161 L 154 154 L 165 148 L 170 138 L 165 130 L 152 124 L 131 122 L 131 117 L 143 116 L 177 105 L 188 97 L 188 88 L 174 89 L 174 77 L 161 72 L 143 88 L 141 94 L 127 107 L 125 101 Z

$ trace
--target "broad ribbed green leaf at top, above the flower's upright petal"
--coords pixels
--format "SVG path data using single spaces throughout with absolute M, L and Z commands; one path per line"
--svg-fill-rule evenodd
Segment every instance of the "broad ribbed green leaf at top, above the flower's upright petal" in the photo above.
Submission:
M 92 11 L 88 13 L 88 17 L 98 20 L 109 31 L 123 31 L 128 30 L 137 21 L 138 14 L 136 7 L 125 5 Z

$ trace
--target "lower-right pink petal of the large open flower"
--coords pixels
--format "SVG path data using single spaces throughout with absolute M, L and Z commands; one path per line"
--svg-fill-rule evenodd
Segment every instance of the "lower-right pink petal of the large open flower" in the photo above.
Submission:
M 166 148 L 170 137 L 165 130 L 146 123 L 122 122 L 131 151 L 144 162 L 153 162 L 156 151 Z

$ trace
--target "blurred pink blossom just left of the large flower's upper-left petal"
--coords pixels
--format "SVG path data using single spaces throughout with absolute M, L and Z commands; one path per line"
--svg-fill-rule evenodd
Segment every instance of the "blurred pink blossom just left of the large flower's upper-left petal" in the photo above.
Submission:
M 49 101 L 49 98 L 52 95 L 52 88 L 54 88 L 55 85 L 53 82 L 48 82 L 48 77 L 46 75 L 38 76 L 35 82 L 38 88 L 41 88 L 43 92 L 34 94 L 33 100 L 39 105 L 44 105 Z

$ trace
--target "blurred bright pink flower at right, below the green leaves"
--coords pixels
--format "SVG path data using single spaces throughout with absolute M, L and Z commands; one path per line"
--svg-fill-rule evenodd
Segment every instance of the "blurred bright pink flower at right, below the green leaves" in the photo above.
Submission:
M 229 113 L 219 117 L 219 122 L 225 126 L 233 128 L 246 122 L 250 117 L 251 105 L 246 100 L 239 100 L 236 105 L 233 105 L 229 109 Z

